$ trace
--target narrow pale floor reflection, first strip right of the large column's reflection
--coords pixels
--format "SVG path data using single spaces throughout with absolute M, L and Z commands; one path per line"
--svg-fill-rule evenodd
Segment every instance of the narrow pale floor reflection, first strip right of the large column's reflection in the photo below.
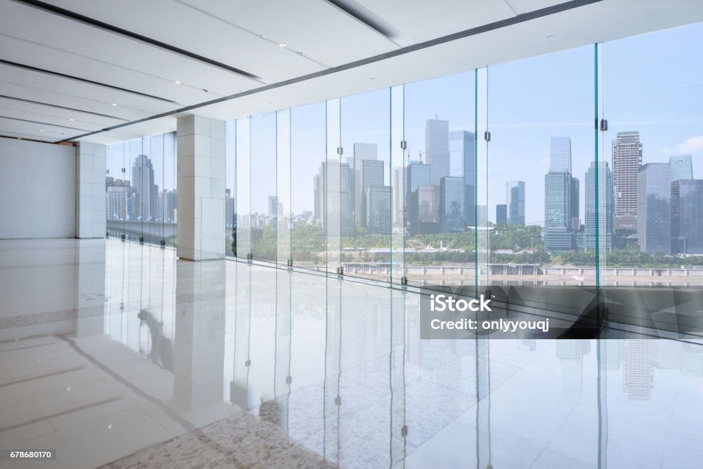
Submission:
M 252 319 L 252 266 L 236 263 L 234 309 L 234 370 L 229 400 L 241 409 L 249 409 L 250 332 Z

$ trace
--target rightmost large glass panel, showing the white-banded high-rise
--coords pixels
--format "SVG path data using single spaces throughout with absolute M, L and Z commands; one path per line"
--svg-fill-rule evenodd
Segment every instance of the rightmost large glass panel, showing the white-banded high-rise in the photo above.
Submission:
M 600 132 L 599 159 L 612 179 L 599 181 L 599 208 L 607 210 L 600 216 L 600 280 L 611 321 L 679 331 L 697 327 L 703 288 L 702 44 L 699 23 L 602 46 L 607 131 Z

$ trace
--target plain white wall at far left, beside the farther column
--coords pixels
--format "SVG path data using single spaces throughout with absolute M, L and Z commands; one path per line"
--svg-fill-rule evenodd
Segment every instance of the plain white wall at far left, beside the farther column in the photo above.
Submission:
M 0 138 L 0 239 L 75 237 L 76 149 Z

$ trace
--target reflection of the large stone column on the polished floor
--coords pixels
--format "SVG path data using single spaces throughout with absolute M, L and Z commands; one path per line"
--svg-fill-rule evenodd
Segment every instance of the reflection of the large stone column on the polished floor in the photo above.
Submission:
M 224 262 L 176 265 L 174 401 L 186 409 L 222 401 Z

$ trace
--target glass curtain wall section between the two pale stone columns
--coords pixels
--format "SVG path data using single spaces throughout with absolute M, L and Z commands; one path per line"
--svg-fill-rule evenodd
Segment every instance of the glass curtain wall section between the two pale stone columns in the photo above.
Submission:
M 107 148 L 107 233 L 124 240 L 175 246 L 176 133 L 152 134 Z

